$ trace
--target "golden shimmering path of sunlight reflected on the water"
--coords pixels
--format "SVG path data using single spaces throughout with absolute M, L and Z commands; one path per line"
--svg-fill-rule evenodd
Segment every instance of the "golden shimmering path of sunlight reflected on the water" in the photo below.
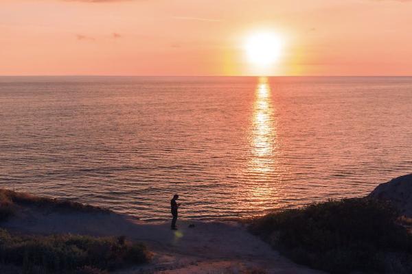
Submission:
M 267 77 L 260 77 L 253 103 L 251 161 L 249 173 L 256 179 L 251 195 L 257 200 L 272 196 L 271 177 L 275 172 L 276 128 L 273 116 L 271 87 Z M 271 195 L 272 194 L 272 195 Z M 257 206 L 257 205 L 255 205 Z

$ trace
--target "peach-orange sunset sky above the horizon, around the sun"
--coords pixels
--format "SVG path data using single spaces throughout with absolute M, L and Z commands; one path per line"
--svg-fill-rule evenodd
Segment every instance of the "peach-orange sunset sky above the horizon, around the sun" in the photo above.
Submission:
M 412 0 L 0 0 L 0 75 L 261 74 L 412 75 Z

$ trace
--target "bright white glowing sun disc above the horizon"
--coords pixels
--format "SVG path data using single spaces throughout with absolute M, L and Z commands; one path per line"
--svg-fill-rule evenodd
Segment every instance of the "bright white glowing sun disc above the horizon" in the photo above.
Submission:
M 271 32 L 255 33 L 247 37 L 244 49 L 251 64 L 271 66 L 282 53 L 282 39 Z

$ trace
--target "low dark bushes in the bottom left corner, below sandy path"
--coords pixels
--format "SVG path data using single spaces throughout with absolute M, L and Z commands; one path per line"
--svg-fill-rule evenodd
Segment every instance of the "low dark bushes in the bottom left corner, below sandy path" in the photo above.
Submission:
M 103 274 L 150 258 L 144 245 L 124 237 L 18 236 L 0 229 L 1 264 L 21 266 L 23 273 Z

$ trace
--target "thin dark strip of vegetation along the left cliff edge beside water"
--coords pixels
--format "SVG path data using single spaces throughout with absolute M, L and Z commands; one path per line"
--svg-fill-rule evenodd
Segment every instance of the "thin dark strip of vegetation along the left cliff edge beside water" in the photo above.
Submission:
M 5 221 L 12 216 L 18 206 L 38 206 L 52 208 L 52 210 L 56 211 L 109 212 L 109 210 L 74 201 L 39 197 L 24 192 L 0 189 L 0 221 Z

